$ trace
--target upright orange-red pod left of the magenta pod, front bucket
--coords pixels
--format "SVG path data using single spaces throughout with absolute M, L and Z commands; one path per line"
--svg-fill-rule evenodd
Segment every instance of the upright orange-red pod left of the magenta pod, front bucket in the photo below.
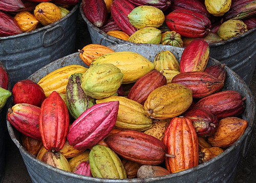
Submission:
M 49 151 L 62 149 L 69 131 L 69 112 L 60 95 L 53 91 L 42 102 L 39 129 L 42 144 Z

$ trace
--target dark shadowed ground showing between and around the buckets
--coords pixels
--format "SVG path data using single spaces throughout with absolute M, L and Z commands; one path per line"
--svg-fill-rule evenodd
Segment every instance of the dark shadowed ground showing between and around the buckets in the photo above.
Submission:
M 76 50 L 82 49 L 85 45 L 91 43 L 90 35 L 87 30 L 86 23 L 79 15 L 77 25 L 77 40 Z M 256 61 L 256 60 L 255 60 Z M 256 99 L 256 70 L 254 70 L 252 81 L 249 85 L 254 99 Z M 254 135 L 255 137 L 256 135 Z M 238 183 L 254 183 L 256 182 L 256 138 L 253 139 L 247 156 L 242 159 L 236 179 Z M 207 176 L 207 175 L 205 175 Z M 12 142 L 8 132 L 6 133 L 6 171 L 3 183 L 23 183 L 31 182 L 23 158 L 20 155 L 18 148 Z

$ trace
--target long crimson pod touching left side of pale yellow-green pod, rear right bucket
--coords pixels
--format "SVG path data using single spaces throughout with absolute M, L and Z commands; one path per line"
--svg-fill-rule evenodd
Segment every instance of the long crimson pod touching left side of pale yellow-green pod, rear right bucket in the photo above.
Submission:
M 126 0 L 114 0 L 111 4 L 111 14 L 120 29 L 128 35 L 132 35 L 137 31 L 129 21 L 127 15 L 135 8 L 135 6 Z

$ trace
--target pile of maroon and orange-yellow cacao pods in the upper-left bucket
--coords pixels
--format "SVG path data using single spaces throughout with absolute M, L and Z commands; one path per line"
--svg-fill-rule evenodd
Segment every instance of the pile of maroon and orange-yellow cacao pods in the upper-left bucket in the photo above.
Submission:
M 48 26 L 66 16 L 79 0 L 0 1 L 0 37 Z

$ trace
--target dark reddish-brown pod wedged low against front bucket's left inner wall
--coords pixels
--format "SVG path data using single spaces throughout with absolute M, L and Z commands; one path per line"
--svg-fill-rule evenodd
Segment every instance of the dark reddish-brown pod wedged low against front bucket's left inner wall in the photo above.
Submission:
M 22 134 L 22 145 L 27 151 L 36 156 L 42 147 L 42 142 Z

